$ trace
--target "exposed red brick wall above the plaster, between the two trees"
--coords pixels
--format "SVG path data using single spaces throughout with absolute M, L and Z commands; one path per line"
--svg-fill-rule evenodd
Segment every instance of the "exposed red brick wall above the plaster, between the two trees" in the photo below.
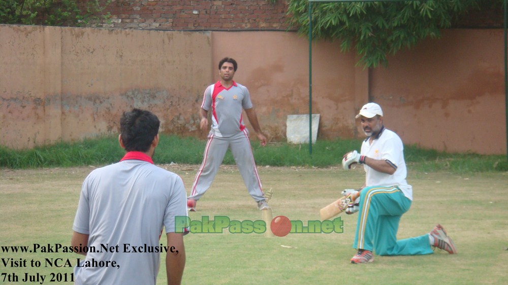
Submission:
M 113 0 L 104 27 L 160 30 L 287 30 L 287 6 L 265 0 Z

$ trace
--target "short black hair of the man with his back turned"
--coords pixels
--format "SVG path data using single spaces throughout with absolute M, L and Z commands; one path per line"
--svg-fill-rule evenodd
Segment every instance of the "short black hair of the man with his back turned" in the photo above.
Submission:
M 149 111 L 135 108 L 123 112 L 120 133 L 125 151 L 147 152 L 160 125 L 161 121 Z

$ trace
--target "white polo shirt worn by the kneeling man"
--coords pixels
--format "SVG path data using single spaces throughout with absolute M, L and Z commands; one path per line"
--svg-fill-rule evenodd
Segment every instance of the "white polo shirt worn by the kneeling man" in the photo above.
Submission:
M 361 155 L 373 159 L 386 160 L 396 167 L 396 170 L 395 173 L 390 175 L 376 171 L 364 164 L 366 186 L 398 186 L 402 190 L 402 193 L 404 193 L 404 196 L 412 200 L 412 187 L 406 182 L 407 169 L 404 161 L 404 146 L 400 137 L 383 126 L 377 137 L 372 141 L 372 144 L 370 144 L 369 140 L 370 137 L 367 137 L 363 141 L 360 151 Z

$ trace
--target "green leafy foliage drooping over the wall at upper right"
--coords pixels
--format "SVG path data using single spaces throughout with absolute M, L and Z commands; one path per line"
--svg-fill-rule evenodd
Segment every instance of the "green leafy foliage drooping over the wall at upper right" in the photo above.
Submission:
M 492 1 L 492 0 L 491 0 Z M 387 56 L 418 41 L 440 37 L 482 0 L 312 3 L 312 37 L 340 40 L 342 51 L 355 48 L 364 67 L 387 65 Z M 486 1 L 489 2 L 489 1 Z M 499 6 L 501 8 L 501 6 Z M 290 0 L 290 24 L 308 34 L 308 1 Z

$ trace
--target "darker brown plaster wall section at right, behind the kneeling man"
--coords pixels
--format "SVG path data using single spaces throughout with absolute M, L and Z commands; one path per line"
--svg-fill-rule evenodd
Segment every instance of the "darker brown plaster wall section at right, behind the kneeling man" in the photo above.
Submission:
M 406 144 L 506 153 L 503 50 L 502 30 L 444 30 L 372 70 L 372 99 Z

